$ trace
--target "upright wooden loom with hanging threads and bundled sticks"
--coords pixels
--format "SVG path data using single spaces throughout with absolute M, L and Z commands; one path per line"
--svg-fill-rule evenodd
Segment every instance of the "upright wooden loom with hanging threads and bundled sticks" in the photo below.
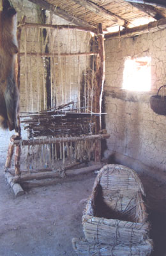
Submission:
M 27 180 L 101 168 L 101 140 L 109 138 L 101 122 L 102 24 L 91 31 L 22 20 L 18 39 L 17 82 L 25 95 L 19 122 L 27 133 L 22 138 L 20 129 L 8 147 L 6 178 L 15 195 L 22 194 L 20 185 Z

